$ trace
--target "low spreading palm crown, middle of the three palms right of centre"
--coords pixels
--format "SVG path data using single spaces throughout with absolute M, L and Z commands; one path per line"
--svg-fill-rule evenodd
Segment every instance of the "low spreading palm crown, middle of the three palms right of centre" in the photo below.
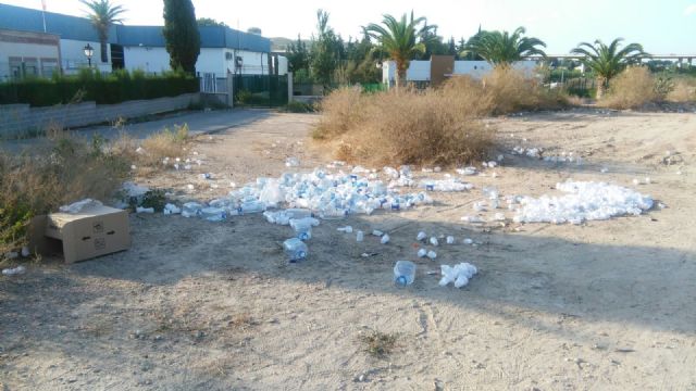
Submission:
M 467 52 L 481 55 L 494 66 L 510 66 L 513 62 L 530 55 L 546 56 L 543 40 L 534 37 L 523 37 L 526 30 L 518 27 L 510 35 L 508 31 L 480 31 L 469 40 Z

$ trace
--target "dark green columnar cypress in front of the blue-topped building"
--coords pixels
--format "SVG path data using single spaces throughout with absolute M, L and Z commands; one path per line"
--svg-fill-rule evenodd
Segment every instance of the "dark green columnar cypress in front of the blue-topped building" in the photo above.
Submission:
M 162 29 L 172 70 L 196 73 L 200 54 L 200 33 L 191 0 L 164 0 Z

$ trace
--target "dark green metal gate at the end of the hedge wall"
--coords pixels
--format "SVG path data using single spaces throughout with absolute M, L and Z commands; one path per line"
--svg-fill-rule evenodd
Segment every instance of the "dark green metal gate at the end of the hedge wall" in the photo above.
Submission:
M 287 104 L 287 75 L 234 76 L 235 105 L 277 108 Z

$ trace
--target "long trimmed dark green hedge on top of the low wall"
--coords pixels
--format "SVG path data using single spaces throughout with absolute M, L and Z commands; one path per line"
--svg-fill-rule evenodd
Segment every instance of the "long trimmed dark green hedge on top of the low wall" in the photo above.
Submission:
M 101 76 L 87 72 L 79 76 L 2 83 L 0 104 L 28 103 L 32 106 L 48 106 L 78 101 L 113 104 L 128 100 L 176 97 L 198 90 L 197 78 L 179 74 L 144 76 L 119 72 Z

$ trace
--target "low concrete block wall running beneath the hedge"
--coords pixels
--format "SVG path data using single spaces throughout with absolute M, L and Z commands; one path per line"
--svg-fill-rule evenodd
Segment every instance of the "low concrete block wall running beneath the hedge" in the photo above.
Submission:
M 29 108 L 28 104 L 0 105 L 0 138 L 40 130 L 55 123 L 66 128 L 109 123 L 117 118 L 134 118 L 149 114 L 183 110 L 200 100 L 199 93 L 173 98 L 127 101 L 117 104 L 77 104 Z

